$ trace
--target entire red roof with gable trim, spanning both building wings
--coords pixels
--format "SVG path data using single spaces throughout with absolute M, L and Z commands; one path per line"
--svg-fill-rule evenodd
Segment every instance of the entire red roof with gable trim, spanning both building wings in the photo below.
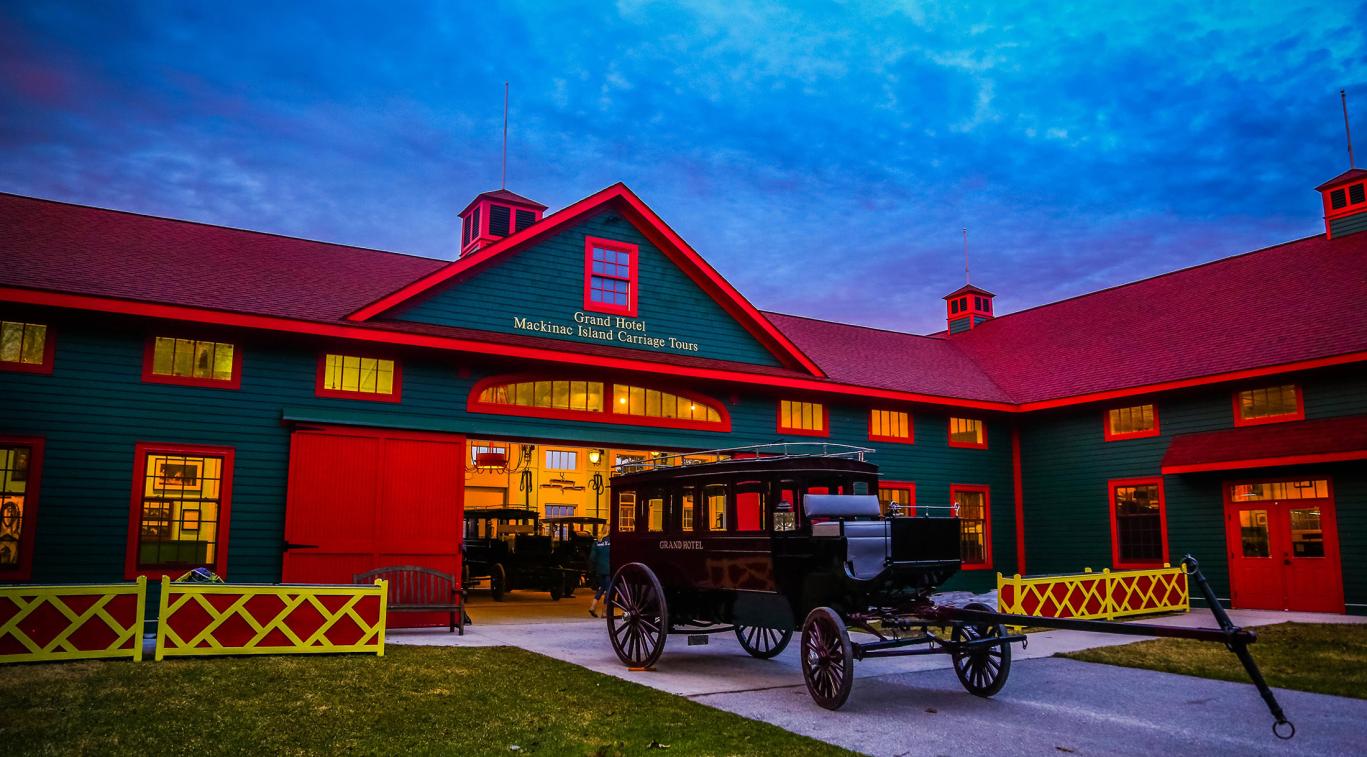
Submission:
M 674 245 L 700 276 L 715 275 L 621 184 L 454 264 L 0 193 L 0 299 L 286 331 L 312 322 L 308 333 L 324 336 L 560 362 L 588 355 L 608 368 L 1007 411 L 1367 361 L 1367 310 L 1356 306 L 1367 302 L 1367 234 L 1311 236 L 954 336 L 761 313 L 740 295 L 730 301 L 817 376 L 805 366 L 355 320 L 405 301 L 409 290 L 476 269 L 539 227 L 550 232 L 604 206 L 640 219 L 652 242 Z M 711 286 L 734 292 L 720 276 Z

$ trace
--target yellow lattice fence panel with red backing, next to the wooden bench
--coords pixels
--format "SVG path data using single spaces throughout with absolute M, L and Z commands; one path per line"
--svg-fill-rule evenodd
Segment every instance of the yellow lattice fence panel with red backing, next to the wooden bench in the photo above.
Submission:
M 384 655 L 387 583 L 246 585 L 161 579 L 156 659 L 197 655 Z

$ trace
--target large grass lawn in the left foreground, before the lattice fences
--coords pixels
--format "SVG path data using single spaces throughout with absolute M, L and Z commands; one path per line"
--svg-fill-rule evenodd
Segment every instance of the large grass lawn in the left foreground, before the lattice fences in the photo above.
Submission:
M 5 754 L 848 754 L 521 649 L 422 646 L 0 665 L 0 743 Z

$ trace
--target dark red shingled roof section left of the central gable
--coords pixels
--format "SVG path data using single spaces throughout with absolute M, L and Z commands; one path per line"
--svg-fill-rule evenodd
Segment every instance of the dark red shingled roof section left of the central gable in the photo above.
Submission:
M 0 193 L 0 283 L 336 321 L 446 261 Z

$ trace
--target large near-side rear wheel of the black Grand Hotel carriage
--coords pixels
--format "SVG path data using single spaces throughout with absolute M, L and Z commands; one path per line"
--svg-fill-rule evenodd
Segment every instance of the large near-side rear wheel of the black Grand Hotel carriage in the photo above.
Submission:
M 659 578 L 641 563 L 627 563 L 612 577 L 607 597 L 607 634 L 617 657 L 629 668 L 655 665 L 670 633 Z

